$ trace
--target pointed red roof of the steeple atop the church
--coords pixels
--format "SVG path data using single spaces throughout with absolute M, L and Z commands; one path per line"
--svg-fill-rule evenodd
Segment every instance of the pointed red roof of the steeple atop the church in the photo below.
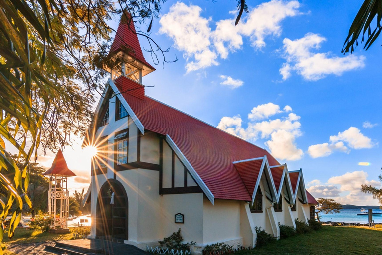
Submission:
M 128 54 L 130 56 L 155 70 L 155 68 L 145 60 L 141 45 L 139 44 L 137 32 L 135 30 L 134 21 L 131 19 L 129 13 L 127 13 L 127 16 L 130 20 L 127 20 L 124 14 L 121 16 L 121 21 L 119 22 L 113 44 L 111 44 L 110 53 L 117 53 L 118 51 L 129 49 Z

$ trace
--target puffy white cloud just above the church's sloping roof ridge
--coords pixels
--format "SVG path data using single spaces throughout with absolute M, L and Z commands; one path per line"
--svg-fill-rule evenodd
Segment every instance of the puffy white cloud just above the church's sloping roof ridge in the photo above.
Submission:
M 268 139 L 265 145 L 273 156 L 281 160 L 299 160 L 304 154 L 295 142 L 295 139 L 302 135 L 301 123 L 298 121 L 300 116 L 289 113 L 274 120 L 259 121 L 275 114 L 286 114 L 292 108 L 286 106 L 283 110 L 273 103 L 258 105 L 248 114 L 247 128 L 242 127 L 243 120 L 240 116 L 221 118 L 217 128 L 251 141 Z

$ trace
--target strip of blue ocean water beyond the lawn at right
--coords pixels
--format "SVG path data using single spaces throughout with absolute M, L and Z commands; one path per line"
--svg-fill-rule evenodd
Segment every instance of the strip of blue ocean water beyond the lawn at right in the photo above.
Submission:
M 365 208 L 367 209 L 367 208 Z M 367 210 L 366 210 L 367 211 Z M 373 209 L 373 213 L 381 213 L 381 210 Z M 361 213 L 358 209 L 342 209 L 339 213 L 320 213 L 320 221 L 334 221 L 346 223 L 368 223 L 368 216 L 357 215 Z M 374 223 L 382 223 L 382 216 L 373 215 Z

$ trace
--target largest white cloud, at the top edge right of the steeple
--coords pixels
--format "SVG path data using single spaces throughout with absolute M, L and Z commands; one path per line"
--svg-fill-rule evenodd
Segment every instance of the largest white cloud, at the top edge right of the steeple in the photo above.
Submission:
M 225 19 L 217 21 L 212 30 L 212 19 L 201 16 L 199 6 L 177 2 L 161 17 L 159 32 L 169 36 L 184 53 L 186 72 L 191 72 L 218 65 L 219 56 L 226 59 L 242 47 L 243 36 L 249 37 L 254 48 L 264 47 L 267 36 L 280 36 L 286 17 L 300 14 L 299 7 L 298 1 L 272 0 L 250 9 L 237 26 L 234 18 Z

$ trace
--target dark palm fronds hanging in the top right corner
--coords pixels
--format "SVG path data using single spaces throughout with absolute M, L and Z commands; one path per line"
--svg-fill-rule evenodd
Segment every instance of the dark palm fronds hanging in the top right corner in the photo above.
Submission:
M 375 18 L 377 18 L 377 22 L 373 25 L 372 21 L 374 21 Z M 369 49 L 381 33 L 381 19 L 382 0 L 365 0 L 349 28 L 349 33 L 346 37 L 342 52 L 347 53 L 350 51 L 350 53 L 352 53 L 354 47 L 358 46 L 358 40 L 361 34 L 361 42 L 364 41 L 366 36 L 364 49 Z

